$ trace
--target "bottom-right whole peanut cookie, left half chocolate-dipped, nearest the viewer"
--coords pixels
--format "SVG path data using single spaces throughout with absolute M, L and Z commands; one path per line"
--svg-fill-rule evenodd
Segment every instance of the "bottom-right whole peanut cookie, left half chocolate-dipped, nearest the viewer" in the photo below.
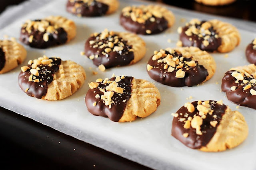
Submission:
M 248 125 L 238 111 L 222 101 L 185 103 L 172 121 L 172 136 L 192 149 L 224 151 L 241 144 L 248 136 Z

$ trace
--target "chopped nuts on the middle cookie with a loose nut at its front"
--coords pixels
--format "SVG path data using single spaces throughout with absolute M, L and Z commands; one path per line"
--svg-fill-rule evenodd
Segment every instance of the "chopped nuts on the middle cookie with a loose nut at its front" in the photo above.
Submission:
M 90 40 L 90 47 L 102 49 L 100 55 L 109 57 L 109 53 L 117 52 L 120 55 L 126 55 L 133 51 L 132 45 L 128 45 L 127 41 L 118 36 L 117 33 L 113 31 L 108 31 L 105 29 L 101 33 L 94 33 L 92 38 L 95 40 Z M 90 59 L 98 58 L 98 55 L 89 56 Z

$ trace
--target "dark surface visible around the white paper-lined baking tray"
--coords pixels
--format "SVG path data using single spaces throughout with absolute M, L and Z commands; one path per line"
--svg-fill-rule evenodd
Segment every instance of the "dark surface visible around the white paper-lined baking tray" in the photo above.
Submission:
M 24 0 L 1 0 L 0 13 Z M 153 0 L 152 0 L 153 1 Z M 190 10 L 256 21 L 256 0 L 211 7 L 193 0 L 158 0 Z M 1 169 L 149 169 L 0 107 Z

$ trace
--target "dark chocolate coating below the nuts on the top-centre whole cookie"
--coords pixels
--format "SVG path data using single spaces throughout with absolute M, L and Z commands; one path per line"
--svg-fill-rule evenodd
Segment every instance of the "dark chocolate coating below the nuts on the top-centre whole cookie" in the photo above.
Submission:
M 154 17 L 155 21 L 151 22 L 149 19 L 145 23 L 134 22 L 130 16 L 120 16 L 120 24 L 126 30 L 134 32 L 135 34 L 150 35 L 146 33 L 146 30 L 150 30 L 151 34 L 158 34 L 168 28 L 168 21 L 162 17 Z

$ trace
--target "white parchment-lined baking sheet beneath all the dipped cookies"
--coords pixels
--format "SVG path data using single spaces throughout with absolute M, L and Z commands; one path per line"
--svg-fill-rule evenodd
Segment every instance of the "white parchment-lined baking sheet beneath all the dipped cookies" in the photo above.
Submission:
M 242 36 L 241 44 L 232 52 L 225 54 L 212 53 L 217 63 L 215 75 L 203 85 L 194 87 L 168 87 L 154 83 L 160 90 L 162 101 L 158 110 L 144 119 L 137 119 L 132 123 L 114 123 L 107 118 L 96 117 L 88 113 L 84 103 L 84 97 L 89 87 L 87 83 L 98 78 L 115 75 L 129 75 L 138 79 L 152 81 L 146 72 L 146 63 L 154 50 L 160 48 L 175 47 L 178 40 L 176 32 L 178 26 L 184 25 L 184 19 L 189 21 L 192 17 L 200 19 L 212 19 L 214 16 L 188 12 L 178 8 L 168 7 L 176 15 L 176 23 L 166 32 L 154 36 L 141 36 L 147 45 L 147 53 L 144 59 L 134 65 L 108 69 L 100 72 L 92 64 L 90 59 L 80 55 L 84 49 L 84 42 L 93 32 L 101 32 L 104 28 L 115 31 L 124 31 L 119 25 L 121 9 L 128 5 L 146 4 L 134 0 L 121 0 L 118 12 L 104 17 L 77 18 L 65 10 L 66 1 L 55 0 L 46 6 L 22 17 L 14 24 L 0 30 L 0 38 L 4 35 L 18 39 L 20 25 L 27 19 L 44 18 L 49 15 L 62 15 L 74 20 L 77 24 L 77 36 L 66 45 L 52 47 L 50 49 L 28 50 L 27 59 L 35 59 L 42 55 L 59 56 L 63 60 L 70 59 L 82 65 L 86 71 L 87 79 L 84 86 L 74 95 L 61 101 L 43 101 L 28 97 L 18 86 L 18 73 L 20 67 L 9 73 L 0 75 L 0 106 L 16 113 L 34 119 L 44 125 L 50 126 L 60 132 L 69 134 L 75 138 L 91 143 L 95 146 L 146 165 L 154 169 L 256 169 L 256 111 L 246 107 L 236 108 L 236 105 L 226 99 L 224 92 L 220 91 L 221 79 L 224 73 L 231 67 L 247 65 L 244 51 L 246 45 L 256 37 L 256 24 L 241 24 L 236 20 L 228 21 L 238 28 Z M 217 17 L 220 18 L 220 17 Z M 171 42 L 168 42 L 168 39 Z M 98 71 L 93 75 L 92 71 Z M 184 103 L 195 100 L 220 100 L 231 107 L 232 110 L 240 111 L 248 125 L 249 136 L 238 147 L 219 153 L 205 153 L 187 148 L 178 140 L 170 136 L 172 116 Z M 74 151 L 75 152 L 75 151 Z

